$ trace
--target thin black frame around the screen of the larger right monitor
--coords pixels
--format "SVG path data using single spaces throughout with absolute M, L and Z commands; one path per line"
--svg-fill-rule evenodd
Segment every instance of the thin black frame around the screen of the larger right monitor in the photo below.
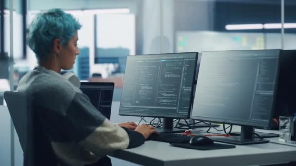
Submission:
M 275 81 L 275 87 L 274 87 L 274 95 L 273 95 L 273 100 L 272 100 L 272 109 L 270 113 L 270 117 L 268 120 L 268 123 L 256 123 L 256 122 L 247 122 L 247 121 L 240 121 L 240 120 L 233 120 L 233 119 L 222 119 L 222 118 L 213 118 L 213 117 L 203 117 L 203 116 L 193 116 L 193 110 L 190 113 L 190 118 L 193 120 L 200 120 L 200 121 L 206 121 L 206 122 L 213 122 L 213 123 L 223 123 L 223 124 L 232 124 L 232 125 L 240 125 L 240 126 L 252 126 L 252 127 L 263 127 L 263 128 L 268 128 L 271 126 L 273 114 L 275 112 L 275 105 L 276 105 L 276 97 L 277 97 L 277 86 L 278 86 L 278 78 L 279 78 L 279 73 L 280 73 L 280 61 L 281 61 L 281 52 L 282 50 L 280 49 L 268 49 L 269 51 L 278 51 L 278 62 L 277 62 L 277 73 L 276 73 L 276 81 Z M 201 58 L 204 57 L 203 53 L 206 52 L 244 52 L 244 51 L 266 51 L 266 50 L 223 50 L 223 51 L 203 51 L 201 53 Z M 201 62 L 202 64 L 202 59 Z M 199 69 L 200 70 L 200 69 Z M 199 77 L 199 76 L 198 76 Z M 197 78 L 197 82 L 199 79 Z M 197 91 L 195 92 L 194 96 L 196 96 Z M 193 102 L 194 105 L 194 102 Z M 194 106 L 192 107 L 192 109 Z

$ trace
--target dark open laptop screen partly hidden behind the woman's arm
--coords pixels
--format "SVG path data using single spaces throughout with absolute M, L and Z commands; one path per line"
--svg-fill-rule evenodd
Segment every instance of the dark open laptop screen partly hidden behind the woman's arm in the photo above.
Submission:
M 92 105 L 110 120 L 114 83 L 81 82 L 80 89 Z

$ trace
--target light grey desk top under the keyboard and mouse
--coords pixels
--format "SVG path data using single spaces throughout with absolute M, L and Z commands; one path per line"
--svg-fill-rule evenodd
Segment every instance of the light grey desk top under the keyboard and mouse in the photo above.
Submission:
M 274 143 L 237 145 L 233 149 L 194 150 L 146 141 L 144 145 L 113 152 L 110 156 L 148 166 L 261 165 L 295 161 L 296 147 Z

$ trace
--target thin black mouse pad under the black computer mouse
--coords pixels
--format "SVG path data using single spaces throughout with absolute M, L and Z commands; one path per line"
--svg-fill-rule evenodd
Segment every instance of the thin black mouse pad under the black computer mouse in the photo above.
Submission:
M 170 144 L 176 147 L 197 149 L 197 150 L 215 150 L 215 149 L 235 148 L 235 145 L 218 144 L 218 143 L 214 143 L 212 145 L 202 145 L 202 146 L 192 146 L 188 143 L 170 143 Z

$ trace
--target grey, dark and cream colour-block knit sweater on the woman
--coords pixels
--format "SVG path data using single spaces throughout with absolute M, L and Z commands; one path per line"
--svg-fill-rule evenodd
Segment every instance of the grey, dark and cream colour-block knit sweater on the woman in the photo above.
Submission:
M 37 111 L 54 152 L 69 166 L 94 163 L 145 141 L 141 133 L 112 124 L 79 88 L 52 70 L 35 68 L 20 80 L 17 91 L 32 96 L 41 108 Z

